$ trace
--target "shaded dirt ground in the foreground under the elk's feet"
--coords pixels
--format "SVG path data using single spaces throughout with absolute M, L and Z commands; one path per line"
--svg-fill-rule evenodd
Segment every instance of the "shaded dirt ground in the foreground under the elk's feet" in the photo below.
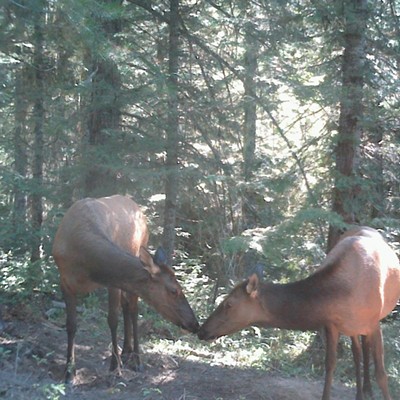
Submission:
M 257 369 L 210 365 L 195 352 L 180 358 L 157 352 L 142 357 L 144 372 L 108 371 L 109 332 L 78 331 L 77 378 L 58 392 L 66 333 L 49 320 L 12 318 L 0 332 L 0 399 L 317 400 L 323 381 L 284 378 Z M 353 400 L 354 389 L 334 384 L 332 400 Z

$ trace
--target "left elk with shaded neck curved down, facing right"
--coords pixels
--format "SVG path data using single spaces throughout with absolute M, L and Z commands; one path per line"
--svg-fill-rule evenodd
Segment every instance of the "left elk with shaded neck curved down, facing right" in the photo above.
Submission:
M 129 197 L 112 196 L 77 201 L 56 233 L 53 256 L 60 272 L 67 313 L 66 382 L 75 375 L 74 340 L 77 295 L 105 286 L 109 292 L 108 324 L 112 338 L 111 369 L 121 366 L 118 353 L 118 311 L 124 316 L 122 354 L 133 355 L 141 368 L 137 332 L 138 297 L 164 318 L 191 332 L 198 322 L 163 252 L 154 256 L 148 242 L 146 218 Z M 133 345 L 132 345 L 133 337 Z

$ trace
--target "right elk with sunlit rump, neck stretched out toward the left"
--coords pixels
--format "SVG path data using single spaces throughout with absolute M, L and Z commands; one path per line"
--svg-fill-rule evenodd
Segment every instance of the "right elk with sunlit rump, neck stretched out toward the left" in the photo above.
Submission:
M 350 336 L 356 369 L 356 400 L 372 394 L 369 351 L 385 400 L 391 400 L 384 366 L 379 321 L 400 297 L 400 266 L 378 231 L 361 227 L 342 236 L 322 265 L 307 278 L 287 283 L 262 282 L 253 274 L 238 284 L 201 326 L 198 336 L 213 340 L 256 325 L 326 333 L 325 384 L 330 399 L 339 335 Z M 363 337 L 361 349 L 359 336 Z M 364 384 L 361 382 L 361 352 Z M 363 386 L 363 387 L 362 387 Z

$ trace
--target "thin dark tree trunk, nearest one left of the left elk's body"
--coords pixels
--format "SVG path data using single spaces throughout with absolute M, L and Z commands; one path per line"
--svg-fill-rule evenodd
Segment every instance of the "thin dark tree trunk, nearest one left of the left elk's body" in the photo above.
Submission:
M 33 101 L 33 160 L 31 191 L 31 215 L 32 215 L 32 249 L 31 262 L 40 259 L 41 227 L 43 222 L 43 127 L 45 120 L 44 110 L 44 4 L 34 10 L 34 101 Z

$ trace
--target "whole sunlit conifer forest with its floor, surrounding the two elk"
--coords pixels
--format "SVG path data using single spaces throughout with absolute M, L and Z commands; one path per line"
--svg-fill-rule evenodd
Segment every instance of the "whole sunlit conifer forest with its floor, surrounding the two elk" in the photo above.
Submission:
M 68 392 L 52 243 L 75 201 L 132 196 L 200 322 L 254 268 L 308 276 L 350 226 L 399 255 L 399 2 L 5 0 L 0 32 L 0 398 L 319 399 L 315 332 L 200 343 L 143 303 L 147 372 L 111 379 L 101 290 Z M 398 312 L 382 326 L 396 399 Z M 333 398 L 352 399 L 341 346 Z

